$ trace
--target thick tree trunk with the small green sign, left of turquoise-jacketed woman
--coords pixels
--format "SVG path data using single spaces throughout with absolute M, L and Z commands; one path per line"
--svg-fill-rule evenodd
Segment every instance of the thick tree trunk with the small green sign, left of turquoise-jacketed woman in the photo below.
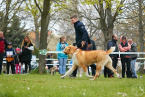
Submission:
M 40 50 L 47 48 L 47 30 L 48 30 L 48 24 L 49 24 L 49 18 L 50 16 L 50 1 L 51 0 L 44 0 L 43 2 L 43 11 L 41 13 L 41 32 L 40 32 Z M 42 74 L 45 72 L 45 55 L 39 54 L 39 74 Z

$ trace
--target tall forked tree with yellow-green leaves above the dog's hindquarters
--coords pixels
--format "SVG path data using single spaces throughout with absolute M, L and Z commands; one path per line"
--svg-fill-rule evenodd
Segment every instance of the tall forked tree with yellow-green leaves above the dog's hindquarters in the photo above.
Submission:
M 107 43 L 111 39 L 113 34 L 114 22 L 116 17 L 123 7 L 125 0 L 85 0 L 86 4 L 93 4 L 94 8 L 99 14 L 99 20 L 101 24 L 101 31 L 104 34 L 104 50 L 107 49 Z M 116 3 L 115 3 L 116 2 Z M 114 4 L 115 3 L 115 4 Z M 115 8 L 113 8 L 115 6 Z M 115 9 L 115 13 L 113 14 Z

